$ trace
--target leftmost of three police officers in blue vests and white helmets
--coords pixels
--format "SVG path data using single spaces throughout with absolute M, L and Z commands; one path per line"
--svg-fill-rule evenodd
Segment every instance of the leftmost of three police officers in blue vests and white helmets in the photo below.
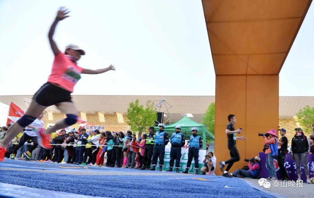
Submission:
M 156 136 L 154 138 L 154 149 L 153 149 L 153 167 L 149 170 L 155 170 L 157 166 L 157 159 L 159 157 L 159 170 L 162 171 L 162 166 L 164 165 L 164 157 L 165 157 L 165 146 L 169 142 L 169 136 L 165 129 L 164 124 L 159 124 L 159 131 L 156 132 Z

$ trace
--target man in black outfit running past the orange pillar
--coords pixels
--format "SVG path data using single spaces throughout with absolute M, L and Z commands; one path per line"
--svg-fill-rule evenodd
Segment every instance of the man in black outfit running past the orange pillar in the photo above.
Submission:
M 237 137 L 236 133 L 241 133 L 242 129 L 238 128 L 238 130 L 235 131 L 234 124 L 236 123 L 236 116 L 233 114 L 228 115 L 228 120 L 229 123 L 227 124 L 227 129 L 226 129 L 226 134 L 228 137 L 228 149 L 230 151 L 230 159 L 227 161 L 219 162 L 220 170 L 225 167 L 226 164 L 228 164 L 227 168 L 223 172 L 222 176 L 224 177 L 232 177 L 231 175 L 228 174 L 228 171 L 231 169 L 233 163 L 237 162 L 240 160 L 240 155 L 238 152 L 238 149 L 236 149 L 236 140 L 245 140 L 246 138 L 244 136 Z

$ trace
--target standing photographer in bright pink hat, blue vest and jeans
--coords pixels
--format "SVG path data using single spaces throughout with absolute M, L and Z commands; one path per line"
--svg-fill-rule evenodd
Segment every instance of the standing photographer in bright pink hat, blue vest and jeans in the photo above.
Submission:
M 266 148 L 266 167 L 269 174 L 269 177 L 267 179 L 270 179 L 271 181 L 278 180 L 273 163 L 274 156 L 278 156 L 278 140 L 276 130 L 271 129 L 270 131 L 266 132 L 266 134 L 258 133 L 258 136 L 262 136 L 264 138 L 264 148 Z

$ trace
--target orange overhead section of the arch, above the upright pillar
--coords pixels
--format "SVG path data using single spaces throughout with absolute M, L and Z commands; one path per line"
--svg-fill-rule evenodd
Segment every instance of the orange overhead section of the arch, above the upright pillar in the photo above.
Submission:
M 312 0 L 202 2 L 216 75 L 253 75 L 279 74 Z

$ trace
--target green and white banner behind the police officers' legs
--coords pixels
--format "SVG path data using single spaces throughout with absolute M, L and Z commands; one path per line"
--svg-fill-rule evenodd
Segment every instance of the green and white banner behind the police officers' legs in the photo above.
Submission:
M 187 168 L 187 154 L 188 154 L 189 150 L 182 148 L 181 150 L 181 160 L 180 160 L 180 169 L 179 171 L 184 171 Z M 199 166 L 199 170 L 204 166 L 203 160 L 205 159 L 205 155 L 206 155 L 206 150 L 199 150 L 198 153 L 198 166 Z M 170 148 L 165 148 L 165 158 L 164 158 L 164 166 L 162 168 L 162 170 L 168 170 L 169 169 L 169 161 L 170 161 Z M 157 164 L 159 163 L 159 160 L 157 162 Z M 176 161 L 175 161 L 176 164 Z M 194 164 L 194 159 L 192 160 L 192 164 L 191 164 L 191 168 L 189 170 L 189 173 L 195 173 L 194 170 L 195 164 Z M 158 169 L 158 166 L 157 166 Z M 198 171 L 200 173 L 200 171 Z

